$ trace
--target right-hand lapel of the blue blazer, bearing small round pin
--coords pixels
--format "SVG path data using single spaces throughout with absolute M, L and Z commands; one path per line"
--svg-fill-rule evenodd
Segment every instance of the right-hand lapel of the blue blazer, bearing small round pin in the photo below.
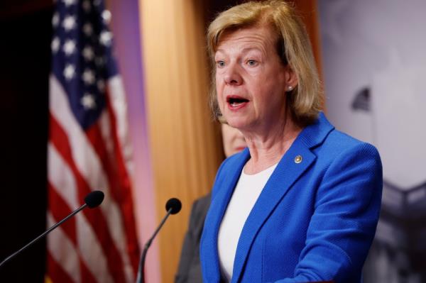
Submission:
M 321 143 L 332 129 L 333 127 L 321 114 L 317 123 L 305 128 L 296 138 L 290 149 L 285 152 L 285 155 L 268 179 L 241 231 L 236 248 L 231 282 L 239 282 L 241 279 L 247 255 L 263 223 L 265 223 L 275 206 L 283 199 L 297 179 L 315 161 L 316 156 L 311 152 L 310 148 Z M 229 199 L 227 199 L 226 205 L 228 201 Z

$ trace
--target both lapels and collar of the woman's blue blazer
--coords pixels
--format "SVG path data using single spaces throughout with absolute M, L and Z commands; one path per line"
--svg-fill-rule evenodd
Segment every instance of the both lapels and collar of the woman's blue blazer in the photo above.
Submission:
M 277 167 L 268 179 L 268 182 L 263 188 L 261 195 L 258 197 L 256 204 L 254 204 L 244 224 L 243 230 L 241 231 L 239 243 L 236 248 L 234 272 L 231 282 L 239 282 L 251 244 L 254 238 L 256 238 L 259 229 L 263 226 L 263 223 L 268 219 L 268 216 L 271 215 L 275 206 L 283 199 L 294 182 L 310 167 L 312 162 L 315 161 L 316 156 L 310 149 L 320 145 L 333 129 L 334 127 L 327 121 L 324 114 L 320 113 L 317 121 L 305 127 L 302 132 L 300 132 L 293 142 L 293 145 L 291 145 L 280 162 L 278 162 Z M 295 158 L 299 155 L 302 157 L 302 161 L 297 163 L 295 162 Z M 236 182 L 238 182 L 241 171 L 249 159 L 250 152 L 247 148 L 234 156 L 234 158 L 229 159 L 229 166 L 226 166 L 226 172 L 223 173 L 226 175 L 226 178 L 223 179 L 222 184 L 218 184 L 221 189 L 217 191 L 217 195 L 212 199 L 212 207 L 215 208 L 215 213 L 212 213 L 211 219 L 212 223 L 214 223 L 214 230 L 212 231 L 213 233 L 210 234 L 212 238 L 209 240 L 212 240 L 211 243 L 213 243 L 212 248 L 214 251 L 212 250 L 212 252 L 215 258 L 212 263 L 214 263 L 215 269 L 218 271 L 217 276 L 220 274 L 219 255 L 217 253 L 217 235 L 219 233 L 219 227 L 222 223 L 226 207 L 234 192 Z M 276 184 L 280 185 L 277 186 Z M 219 277 L 217 277 L 217 279 L 219 280 Z

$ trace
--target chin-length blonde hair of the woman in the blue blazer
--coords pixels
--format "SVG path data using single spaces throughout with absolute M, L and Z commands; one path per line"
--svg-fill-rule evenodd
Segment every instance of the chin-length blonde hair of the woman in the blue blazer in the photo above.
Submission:
M 296 123 L 313 123 L 322 109 L 322 89 L 315 66 L 310 40 L 295 9 L 285 1 L 247 2 L 219 13 L 207 30 L 207 48 L 212 62 L 210 108 L 219 118 L 216 91 L 216 64 L 214 53 L 220 36 L 240 28 L 270 25 L 277 35 L 277 52 L 284 65 L 297 76 L 297 87 L 287 94 L 288 107 Z

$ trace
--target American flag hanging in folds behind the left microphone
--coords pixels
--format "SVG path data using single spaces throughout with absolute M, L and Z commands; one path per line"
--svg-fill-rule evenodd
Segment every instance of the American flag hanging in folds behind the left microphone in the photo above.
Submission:
M 126 101 L 100 0 L 58 0 L 53 14 L 48 226 L 100 189 L 105 200 L 48 237 L 47 281 L 134 282 L 139 248 Z

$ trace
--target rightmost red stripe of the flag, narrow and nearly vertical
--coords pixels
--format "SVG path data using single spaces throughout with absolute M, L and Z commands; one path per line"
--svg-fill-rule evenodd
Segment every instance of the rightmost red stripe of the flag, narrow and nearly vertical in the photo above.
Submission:
M 119 143 L 118 131 L 116 126 L 116 116 L 114 109 L 111 106 L 109 88 L 107 87 L 107 109 L 109 111 L 109 120 L 111 121 L 111 132 L 112 138 L 114 141 L 114 148 L 118 149 L 115 151 L 116 154 L 116 164 L 118 165 L 119 170 L 119 180 L 121 182 L 121 187 L 123 188 L 123 194 L 121 197 L 120 207 L 124 215 L 124 226 L 126 227 L 126 237 L 127 237 L 127 250 L 129 251 L 129 256 L 131 260 L 131 265 L 133 267 L 133 272 L 135 274 L 138 270 L 140 250 L 138 245 L 138 238 L 136 233 L 136 220 L 134 218 L 133 210 L 133 196 L 131 192 L 131 182 L 129 179 L 129 172 L 126 170 L 126 165 L 124 164 L 123 152 L 121 152 L 121 146 Z

